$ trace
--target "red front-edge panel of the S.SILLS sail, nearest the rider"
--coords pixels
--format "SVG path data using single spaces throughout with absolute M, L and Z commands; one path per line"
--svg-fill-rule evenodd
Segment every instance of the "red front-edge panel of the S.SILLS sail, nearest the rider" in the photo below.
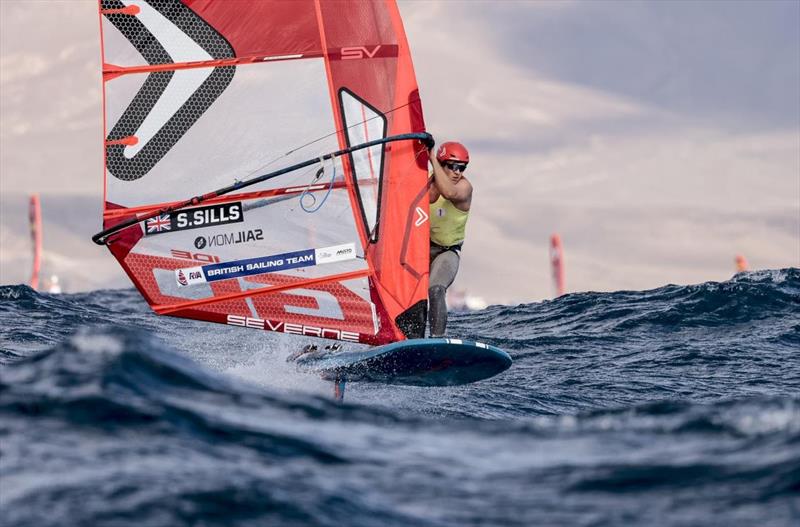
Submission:
M 338 55 L 331 74 L 340 95 L 346 124 L 371 117 L 371 135 L 396 135 L 424 131 L 414 68 L 400 13 L 394 1 L 323 3 L 326 39 Z M 338 13 L 338 16 L 337 16 Z M 359 27 L 360 42 L 353 42 L 351 26 Z M 382 121 L 381 121 L 382 120 Z M 383 123 L 380 126 L 378 123 Z M 363 139 L 348 127 L 350 142 Z M 362 151 L 363 152 L 363 151 Z M 372 243 L 367 251 L 378 282 L 373 292 L 380 298 L 395 331 L 401 337 L 419 336 L 419 329 L 399 328 L 397 320 L 409 309 L 419 309 L 427 299 L 428 243 L 427 157 L 419 143 L 393 143 L 367 151 L 372 158 L 353 156 L 358 180 L 378 167 L 377 202 L 363 187 L 359 197 L 370 225 Z M 419 317 L 417 317 L 418 319 Z

